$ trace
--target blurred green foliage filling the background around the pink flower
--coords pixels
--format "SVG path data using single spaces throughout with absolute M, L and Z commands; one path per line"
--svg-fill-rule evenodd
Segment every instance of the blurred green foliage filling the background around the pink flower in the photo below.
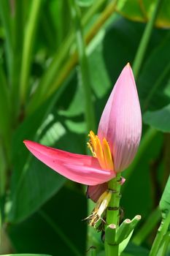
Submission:
M 134 63 L 155 2 L 77 0 L 96 127 L 120 71 L 128 61 Z M 134 164 L 123 173 L 121 206 L 124 218 L 142 214 L 142 222 L 124 256 L 148 255 L 161 213 L 155 227 L 147 225 L 144 238 L 140 230 L 169 187 L 169 26 L 170 5 L 164 0 L 136 76 L 143 137 Z M 69 1 L 0 0 L 0 81 L 0 226 L 10 239 L 3 244 L 1 236 L 1 254 L 12 248 L 15 253 L 85 255 L 97 246 L 98 256 L 104 255 L 100 234 L 88 230 L 85 241 L 84 187 L 42 165 L 23 146 L 29 139 L 87 151 L 85 95 Z M 168 214 L 167 195 L 169 189 L 162 197 Z M 135 243 L 139 236 L 140 246 Z

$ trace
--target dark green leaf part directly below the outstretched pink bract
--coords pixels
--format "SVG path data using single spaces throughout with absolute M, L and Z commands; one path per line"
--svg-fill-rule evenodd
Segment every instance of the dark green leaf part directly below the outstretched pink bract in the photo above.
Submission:
M 65 181 L 63 176 L 31 157 L 20 176 L 20 184 L 14 187 L 15 196 L 12 197 L 9 209 L 9 221 L 20 222 L 26 219 L 58 192 Z

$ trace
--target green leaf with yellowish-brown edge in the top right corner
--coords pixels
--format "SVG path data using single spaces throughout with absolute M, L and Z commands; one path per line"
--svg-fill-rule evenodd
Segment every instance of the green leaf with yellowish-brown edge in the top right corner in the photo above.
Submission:
M 130 18 L 131 20 L 147 22 L 152 15 L 152 9 L 155 5 L 156 0 L 121 0 L 117 4 L 117 12 Z M 170 27 L 170 8 L 169 0 L 162 1 L 160 12 L 156 20 L 156 26 L 163 28 Z

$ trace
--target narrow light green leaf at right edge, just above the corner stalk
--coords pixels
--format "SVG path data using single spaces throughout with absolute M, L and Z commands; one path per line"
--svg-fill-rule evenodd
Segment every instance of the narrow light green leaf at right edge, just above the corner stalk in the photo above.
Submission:
M 163 191 L 159 206 L 161 208 L 163 219 L 166 219 L 166 216 L 170 212 L 170 176 Z

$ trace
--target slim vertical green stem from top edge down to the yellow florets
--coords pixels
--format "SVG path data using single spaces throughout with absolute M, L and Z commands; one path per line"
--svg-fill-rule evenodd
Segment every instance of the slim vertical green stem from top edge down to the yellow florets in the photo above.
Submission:
M 85 41 L 82 35 L 82 25 L 81 25 L 81 16 L 80 9 L 77 6 L 75 0 L 70 0 L 72 18 L 74 20 L 74 26 L 76 31 L 77 39 L 77 51 L 80 59 L 80 70 L 82 75 L 82 87 L 84 89 L 85 96 L 85 121 L 87 126 L 87 133 L 90 129 L 95 130 L 95 114 L 93 109 L 92 102 L 92 93 L 91 93 L 91 83 L 90 83 L 90 72 L 88 69 L 88 59 L 85 51 Z

